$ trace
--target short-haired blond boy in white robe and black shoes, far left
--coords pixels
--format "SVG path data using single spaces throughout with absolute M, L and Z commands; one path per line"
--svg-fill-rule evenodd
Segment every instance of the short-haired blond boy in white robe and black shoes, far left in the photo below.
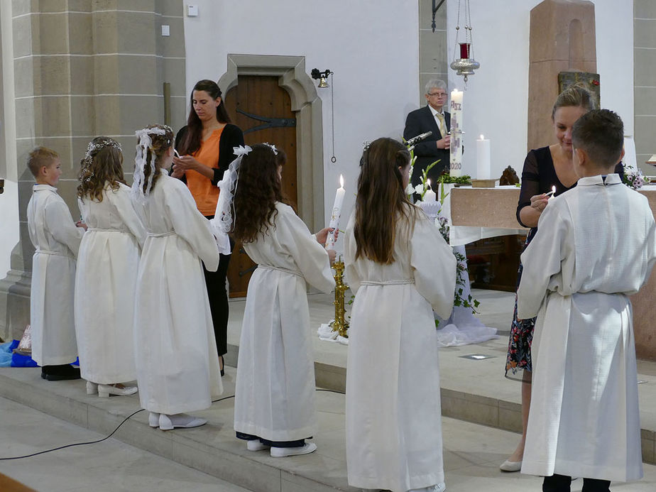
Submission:
M 32 257 L 30 322 L 32 358 L 48 381 L 80 378 L 80 369 L 70 366 L 77 359 L 73 295 L 75 257 L 84 234 L 76 227 L 64 199 L 57 193 L 62 174 L 55 151 L 37 147 L 28 158 L 36 185 L 28 203 Z

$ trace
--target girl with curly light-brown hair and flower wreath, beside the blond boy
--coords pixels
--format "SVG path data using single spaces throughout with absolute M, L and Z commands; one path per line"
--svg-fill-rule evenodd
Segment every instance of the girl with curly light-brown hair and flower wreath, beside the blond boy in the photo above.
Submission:
M 75 331 L 87 393 L 131 395 L 136 386 L 134 294 L 146 229 L 131 203 L 118 142 L 96 137 L 80 162 L 77 202 L 88 226 L 77 256 Z

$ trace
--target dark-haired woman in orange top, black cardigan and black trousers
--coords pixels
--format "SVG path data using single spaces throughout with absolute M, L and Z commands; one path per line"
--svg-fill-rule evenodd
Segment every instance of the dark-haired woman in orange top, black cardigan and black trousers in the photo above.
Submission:
M 212 219 L 217 209 L 217 182 L 235 158 L 232 148 L 241 145 L 244 145 L 244 134 L 238 126 L 230 124 L 217 83 L 212 80 L 197 82 L 191 95 L 187 125 L 175 137 L 175 148 L 181 157 L 173 158 L 171 175 L 187 183 L 199 212 L 207 219 Z M 203 268 L 222 376 L 223 356 L 228 351 L 226 273 L 229 261 L 229 255 L 221 255 L 216 272 Z

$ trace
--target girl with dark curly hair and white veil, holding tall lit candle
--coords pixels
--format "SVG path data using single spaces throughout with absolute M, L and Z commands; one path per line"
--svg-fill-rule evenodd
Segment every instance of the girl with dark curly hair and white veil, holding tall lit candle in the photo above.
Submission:
M 306 290 L 308 283 L 324 293 L 334 288 L 334 251 L 322 246 L 328 229 L 312 236 L 283 197 L 285 154 L 268 144 L 236 153 L 240 156 L 224 178 L 233 177 L 234 207 L 226 199 L 229 189 L 222 187 L 216 217 L 258 268 L 248 283 L 241 328 L 234 429 L 250 451 L 269 449 L 272 457 L 307 454 L 317 449 L 305 442 L 317 417 Z

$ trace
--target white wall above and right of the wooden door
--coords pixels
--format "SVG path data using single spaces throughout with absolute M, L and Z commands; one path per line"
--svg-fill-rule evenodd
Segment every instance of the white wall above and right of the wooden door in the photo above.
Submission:
M 187 1 L 187 94 L 197 80 L 218 80 L 228 53 L 302 55 L 305 68 L 334 72 L 335 155 L 331 163 L 330 89 L 323 102 L 325 209 L 332 209 L 339 174 L 346 180 L 341 226 L 354 204 L 362 143 L 400 138 L 416 108 L 419 31 L 416 1 Z M 224 89 L 222 87 L 222 89 Z M 326 212 L 328 218 L 328 212 Z

